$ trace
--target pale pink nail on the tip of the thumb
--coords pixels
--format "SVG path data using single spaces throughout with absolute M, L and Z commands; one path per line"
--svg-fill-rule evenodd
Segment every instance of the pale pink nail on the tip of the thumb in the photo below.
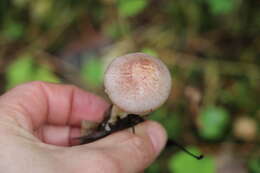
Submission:
M 166 143 L 166 132 L 165 130 L 155 122 L 150 122 L 147 128 L 148 135 L 152 141 L 154 149 L 157 153 L 160 153 Z

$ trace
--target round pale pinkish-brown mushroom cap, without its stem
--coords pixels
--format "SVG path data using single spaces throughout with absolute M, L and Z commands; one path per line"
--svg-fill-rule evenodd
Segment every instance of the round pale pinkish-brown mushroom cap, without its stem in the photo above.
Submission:
M 117 57 L 108 66 L 105 91 L 127 113 L 144 115 L 161 106 L 171 90 L 171 75 L 159 59 L 144 53 Z

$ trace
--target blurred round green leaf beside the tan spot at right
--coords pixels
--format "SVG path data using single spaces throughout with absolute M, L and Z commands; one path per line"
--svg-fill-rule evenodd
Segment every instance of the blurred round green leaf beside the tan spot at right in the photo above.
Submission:
M 199 133 L 205 139 L 217 140 L 224 135 L 229 121 L 230 116 L 225 109 L 216 106 L 203 108 L 199 115 Z

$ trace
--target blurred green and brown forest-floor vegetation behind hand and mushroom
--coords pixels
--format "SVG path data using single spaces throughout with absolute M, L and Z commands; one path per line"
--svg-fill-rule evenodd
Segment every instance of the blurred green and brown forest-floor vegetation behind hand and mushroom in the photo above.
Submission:
M 129 52 L 160 57 L 173 77 L 152 114 L 169 137 L 147 173 L 259 173 L 258 0 L 1 0 L 0 92 L 31 80 L 104 97 L 103 70 Z

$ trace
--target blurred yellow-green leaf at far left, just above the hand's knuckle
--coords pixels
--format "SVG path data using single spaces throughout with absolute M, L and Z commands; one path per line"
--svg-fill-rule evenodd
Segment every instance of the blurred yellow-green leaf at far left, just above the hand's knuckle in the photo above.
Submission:
M 14 61 L 6 71 L 7 88 L 33 80 L 34 61 L 30 55 L 25 55 Z

